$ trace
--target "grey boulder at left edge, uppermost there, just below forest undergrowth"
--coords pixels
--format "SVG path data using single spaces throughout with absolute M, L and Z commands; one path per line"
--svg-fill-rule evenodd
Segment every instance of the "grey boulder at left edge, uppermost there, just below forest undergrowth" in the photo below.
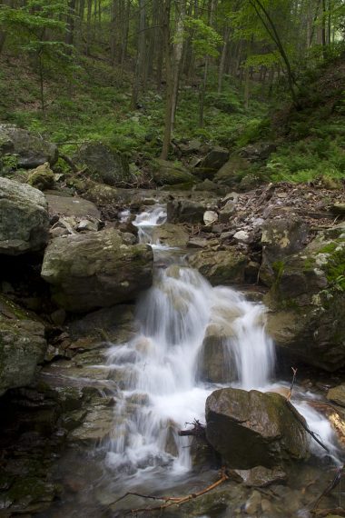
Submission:
M 58 158 L 55 144 L 15 125 L 0 125 L 0 159 L 8 154 L 15 156 L 19 167 L 27 169 L 44 162 L 53 165 Z

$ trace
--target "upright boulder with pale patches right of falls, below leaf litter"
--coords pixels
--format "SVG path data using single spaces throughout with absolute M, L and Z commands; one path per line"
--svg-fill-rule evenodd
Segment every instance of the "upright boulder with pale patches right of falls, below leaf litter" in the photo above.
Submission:
M 310 235 L 311 227 L 299 216 L 291 215 L 265 221 L 261 234 L 261 282 L 271 285 L 281 260 L 300 252 L 308 244 Z

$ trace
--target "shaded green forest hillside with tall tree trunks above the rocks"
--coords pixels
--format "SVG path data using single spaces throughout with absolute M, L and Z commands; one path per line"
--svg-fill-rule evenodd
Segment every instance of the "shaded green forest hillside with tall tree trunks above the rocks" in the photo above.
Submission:
M 344 35 L 343 0 L 3 0 L 0 120 L 138 172 L 183 141 L 265 140 L 263 179 L 341 179 Z

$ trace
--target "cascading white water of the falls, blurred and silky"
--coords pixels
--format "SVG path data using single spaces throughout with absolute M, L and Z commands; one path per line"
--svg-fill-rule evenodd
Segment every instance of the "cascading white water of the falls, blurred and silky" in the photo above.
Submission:
M 153 227 L 165 218 L 161 206 L 137 216 L 142 243 L 151 244 Z M 153 245 L 161 264 L 167 247 Z M 181 259 L 156 268 L 153 287 L 137 304 L 139 334 L 109 351 L 108 364 L 123 391 L 115 406 L 108 465 L 129 474 L 168 464 L 178 472 L 190 467 L 189 449 L 177 431 L 186 422 L 203 421 L 207 396 L 224 386 L 199 381 L 198 361 L 210 324 L 232 327 L 224 348 L 228 381 L 235 378 L 236 386 L 246 390 L 270 390 L 274 348 L 265 334 L 264 311 L 230 288 L 213 288 Z M 312 425 L 322 421 L 316 431 L 330 444 L 328 421 L 306 405 L 299 410 Z

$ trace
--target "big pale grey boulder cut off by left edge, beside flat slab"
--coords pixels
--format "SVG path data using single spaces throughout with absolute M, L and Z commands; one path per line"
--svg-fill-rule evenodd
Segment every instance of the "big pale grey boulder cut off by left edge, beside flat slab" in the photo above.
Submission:
M 44 194 L 31 185 L 0 178 L 0 254 L 34 252 L 48 241 Z

